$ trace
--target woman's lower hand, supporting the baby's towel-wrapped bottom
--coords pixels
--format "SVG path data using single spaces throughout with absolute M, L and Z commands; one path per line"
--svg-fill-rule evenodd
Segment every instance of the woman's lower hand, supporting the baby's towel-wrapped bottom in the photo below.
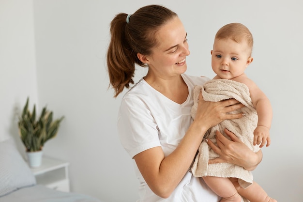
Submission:
M 251 151 L 241 140 L 232 132 L 225 129 L 225 133 L 230 137 L 228 140 L 219 131 L 216 132 L 216 146 L 211 140 L 208 140 L 208 145 L 212 150 L 220 155 L 220 157 L 209 160 L 209 163 L 233 163 L 242 166 L 247 171 L 253 171 L 262 160 L 262 152 L 257 153 Z

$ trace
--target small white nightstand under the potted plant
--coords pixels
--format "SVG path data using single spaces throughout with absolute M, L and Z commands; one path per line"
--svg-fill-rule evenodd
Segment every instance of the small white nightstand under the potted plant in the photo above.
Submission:
M 68 165 L 68 162 L 44 156 L 41 166 L 31 168 L 31 171 L 36 177 L 37 184 L 69 192 Z

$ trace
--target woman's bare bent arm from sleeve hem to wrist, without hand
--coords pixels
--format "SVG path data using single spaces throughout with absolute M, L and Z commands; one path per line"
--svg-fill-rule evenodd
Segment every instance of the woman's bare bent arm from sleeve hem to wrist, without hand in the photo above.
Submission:
M 170 196 L 190 168 L 207 129 L 193 123 L 170 155 L 164 156 L 161 147 L 156 147 L 134 156 L 139 171 L 155 194 L 162 198 Z

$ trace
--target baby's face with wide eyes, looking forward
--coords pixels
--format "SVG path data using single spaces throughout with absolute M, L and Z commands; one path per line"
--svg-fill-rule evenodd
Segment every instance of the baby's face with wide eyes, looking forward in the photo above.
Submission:
M 215 39 L 212 54 L 212 70 L 224 79 L 241 76 L 250 64 L 251 48 L 245 41 L 237 43 L 232 39 Z

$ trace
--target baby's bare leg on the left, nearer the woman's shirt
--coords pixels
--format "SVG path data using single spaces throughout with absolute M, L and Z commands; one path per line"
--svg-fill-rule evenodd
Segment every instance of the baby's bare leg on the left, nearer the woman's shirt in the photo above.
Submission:
M 214 193 L 222 197 L 220 202 L 241 202 L 241 196 L 228 178 L 202 177 Z

